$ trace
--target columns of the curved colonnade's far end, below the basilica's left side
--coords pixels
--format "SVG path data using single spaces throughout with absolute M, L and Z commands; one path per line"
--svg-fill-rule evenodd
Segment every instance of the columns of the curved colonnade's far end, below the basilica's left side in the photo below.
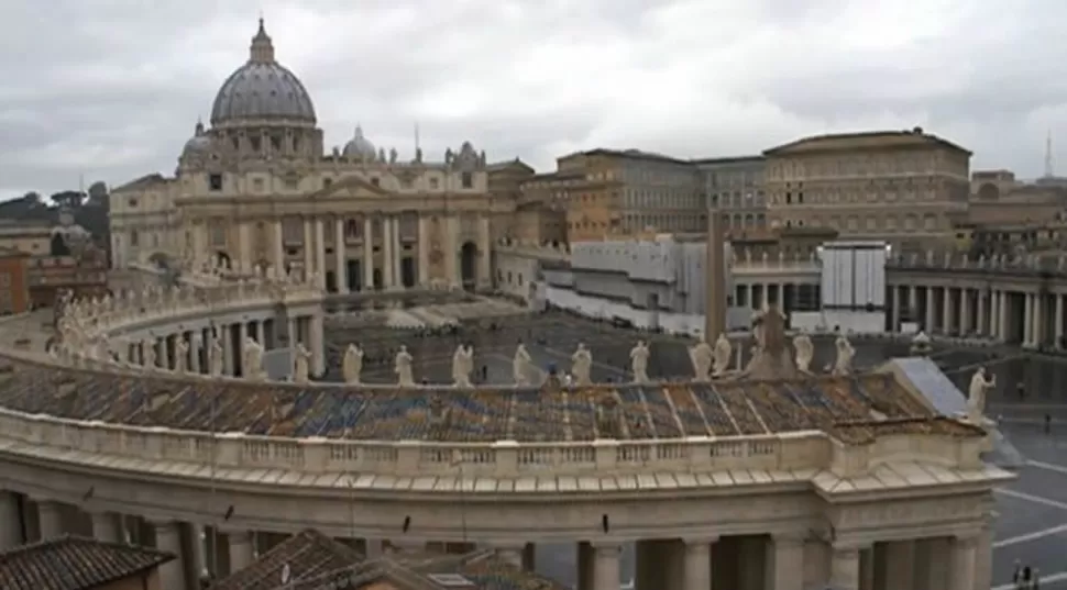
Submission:
M 285 334 L 280 334 L 278 330 L 278 323 L 274 319 L 238 322 L 221 319 L 219 322 L 212 322 L 210 326 L 165 335 L 153 334 L 140 342 L 133 342 L 129 345 L 127 360 L 138 365 L 147 365 L 152 361 L 156 368 L 165 370 L 177 370 L 180 366 L 185 372 L 237 377 L 244 374 L 241 365 L 244 359 L 245 344 L 248 338 L 252 338 L 263 346 L 264 350 L 288 347 L 299 342 L 311 353 L 311 371 L 316 375 L 326 371 L 323 350 L 326 334 L 321 311 L 310 315 L 288 316 Z M 222 346 L 221 367 L 211 366 L 210 347 L 216 337 Z M 179 347 L 179 342 L 185 346 Z M 152 352 L 148 352 L 150 348 Z M 180 348 L 185 349 L 186 356 L 179 361 Z

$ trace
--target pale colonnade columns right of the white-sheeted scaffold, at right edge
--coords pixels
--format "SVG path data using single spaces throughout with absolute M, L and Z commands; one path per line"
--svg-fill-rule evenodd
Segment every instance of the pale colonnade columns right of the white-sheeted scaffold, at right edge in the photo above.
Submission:
M 927 332 L 976 334 L 1018 341 L 1026 347 L 1047 344 L 1063 348 L 1064 293 L 915 285 L 891 289 L 894 330 L 899 330 L 906 309 Z

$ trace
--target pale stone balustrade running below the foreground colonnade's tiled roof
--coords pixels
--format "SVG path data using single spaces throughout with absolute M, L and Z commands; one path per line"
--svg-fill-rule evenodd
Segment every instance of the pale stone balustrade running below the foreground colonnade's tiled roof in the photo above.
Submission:
M 878 464 L 923 458 L 947 467 L 980 466 L 979 439 L 897 435 L 845 445 L 818 431 L 738 437 L 596 439 L 568 443 L 364 442 L 206 433 L 63 420 L 0 409 L 0 438 L 57 453 L 79 450 L 131 460 L 215 465 L 305 474 L 516 478 L 639 472 L 829 470 L 861 477 Z

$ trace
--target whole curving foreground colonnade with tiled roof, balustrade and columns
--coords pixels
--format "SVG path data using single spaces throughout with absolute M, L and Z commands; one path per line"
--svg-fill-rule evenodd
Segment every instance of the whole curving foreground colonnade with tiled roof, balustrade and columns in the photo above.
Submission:
M 983 463 L 982 423 L 924 403 L 903 365 L 809 372 L 758 333 L 746 367 L 739 342 L 694 347 L 691 381 L 635 364 L 634 382 L 592 383 L 576 354 L 573 386 L 317 383 L 321 288 L 213 279 L 68 303 L 53 354 L 4 353 L 16 520 L 0 522 L 21 524 L 3 545 L 63 532 L 73 506 L 103 538 L 116 514 L 145 523 L 185 559 L 164 566 L 174 588 L 206 560 L 189 526 L 221 533 L 231 571 L 255 535 L 314 527 L 516 561 L 576 543 L 585 590 L 619 587 L 627 543 L 642 589 L 989 587 L 991 490 L 1011 476 Z M 283 382 L 263 358 L 288 346 L 304 360 Z

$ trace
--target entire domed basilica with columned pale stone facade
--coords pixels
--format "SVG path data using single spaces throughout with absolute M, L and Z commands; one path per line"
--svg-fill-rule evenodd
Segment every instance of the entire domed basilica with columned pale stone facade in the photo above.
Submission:
M 485 288 L 514 202 L 488 191 L 470 142 L 431 162 L 375 147 L 360 127 L 324 152 L 315 107 L 260 21 L 249 60 L 197 123 L 173 177 L 111 193 L 112 264 L 204 264 L 314 277 L 331 292 Z

